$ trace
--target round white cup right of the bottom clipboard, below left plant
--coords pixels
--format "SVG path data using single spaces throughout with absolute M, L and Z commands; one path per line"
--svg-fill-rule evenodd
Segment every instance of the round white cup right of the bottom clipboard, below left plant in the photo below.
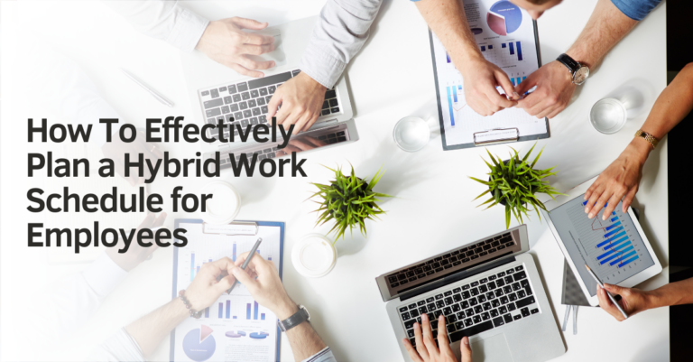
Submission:
M 337 249 L 327 237 L 310 234 L 293 246 L 291 262 L 299 274 L 319 278 L 331 272 L 337 264 Z

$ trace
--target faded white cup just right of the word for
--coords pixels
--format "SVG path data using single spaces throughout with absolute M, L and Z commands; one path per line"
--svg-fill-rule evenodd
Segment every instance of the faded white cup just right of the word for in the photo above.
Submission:
M 213 195 L 206 202 L 206 211 L 199 209 L 199 217 L 209 225 L 227 225 L 234 221 L 241 209 L 241 195 L 230 183 L 212 181 L 200 193 Z

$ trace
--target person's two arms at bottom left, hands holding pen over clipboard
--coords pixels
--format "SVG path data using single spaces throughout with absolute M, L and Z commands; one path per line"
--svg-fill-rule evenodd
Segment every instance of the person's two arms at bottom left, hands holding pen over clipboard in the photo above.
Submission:
M 291 301 L 273 262 L 254 257 L 245 270 L 240 266 L 248 253 L 239 255 L 234 263 L 224 257 L 202 265 L 188 289 L 180 297 L 128 324 L 94 351 L 91 360 L 144 361 L 171 330 L 197 311 L 217 302 L 231 285 L 241 282 L 253 299 L 272 311 L 279 320 L 286 320 L 297 311 Z M 335 362 L 332 351 L 313 330 L 309 321 L 303 321 L 286 331 L 293 356 L 297 361 Z

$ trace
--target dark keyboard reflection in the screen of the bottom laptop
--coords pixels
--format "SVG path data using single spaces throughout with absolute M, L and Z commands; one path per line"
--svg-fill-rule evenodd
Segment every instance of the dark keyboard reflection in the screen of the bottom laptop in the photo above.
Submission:
M 414 282 L 417 279 L 423 278 L 437 273 L 448 273 L 447 269 L 453 266 L 470 263 L 472 260 L 480 256 L 490 255 L 493 253 L 503 252 L 506 247 L 515 245 L 513 237 L 510 233 L 505 233 L 497 237 L 491 237 L 488 240 L 476 243 L 473 246 L 462 247 L 446 255 L 438 256 L 433 260 L 420 265 L 411 266 L 407 270 L 402 270 L 396 274 L 387 276 L 387 281 L 391 288 Z

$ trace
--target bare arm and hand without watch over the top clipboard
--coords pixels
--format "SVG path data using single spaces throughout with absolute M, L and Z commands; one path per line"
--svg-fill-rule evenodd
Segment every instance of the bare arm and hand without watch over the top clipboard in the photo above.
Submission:
M 495 87 L 500 86 L 506 95 L 519 98 L 504 70 L 486 61 L 479 51 L 461 2 L 421 0 L 416 2 L 416 7 L 448 51 L 455 68 L 462 74 L 469 107 L 479 115 L 491 116 L 517 104 L 496 90 Z

